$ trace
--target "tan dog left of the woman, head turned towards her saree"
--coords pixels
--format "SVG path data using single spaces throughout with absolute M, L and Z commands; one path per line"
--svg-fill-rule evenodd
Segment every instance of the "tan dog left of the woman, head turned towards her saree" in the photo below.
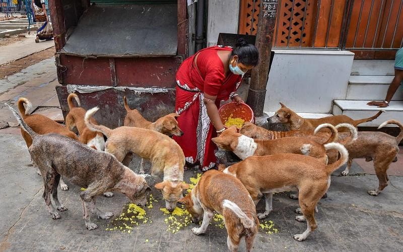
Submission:
M 139 110 L 130 109 L 127 105 L 126 96 L 123 97 L 124 108 L 127 111 L 126 117 L 124 117 L 124 126 L 128 127 L 138 127 L 143 129 L 148 129 L 152 131 L 156 131 L 168 136 L 177 136 L 180 137 L 183 135 L 183 132 L 178 127 L 178 122 L 176 121 L 176 117 L 178 114 L 170 113 L 161 118 L 158 118 L 155 122 L 151 122 L 146 120 Z

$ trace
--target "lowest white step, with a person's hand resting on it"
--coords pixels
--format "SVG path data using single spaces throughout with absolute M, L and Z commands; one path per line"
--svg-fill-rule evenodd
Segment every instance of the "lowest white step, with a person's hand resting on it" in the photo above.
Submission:
M 371 117 L 380 109 L 386 112 L 382 113 L 377 119 L 361 123 L 362 127 L 378 127 L 382 122 L 395 119 L 403 122 L 403 101 L 392 101 L 386 108 L 368 106 L 370 100 L 334 100 L 332 112 L 334 115 L 347 115 L 353 119 L 362 119 Z M 389 127 L 394 127 L 390 125 Z

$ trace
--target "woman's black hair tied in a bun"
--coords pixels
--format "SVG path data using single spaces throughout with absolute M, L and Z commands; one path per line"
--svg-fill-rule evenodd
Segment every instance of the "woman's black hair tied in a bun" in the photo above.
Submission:
M 256 66 L 259 61 L 259 52 L 256 46 L 248 44 L 244 38 L 238 38 L 235 48 L 232 49 L 231 56 L 237 55 L 238 62 L 246 66 Z

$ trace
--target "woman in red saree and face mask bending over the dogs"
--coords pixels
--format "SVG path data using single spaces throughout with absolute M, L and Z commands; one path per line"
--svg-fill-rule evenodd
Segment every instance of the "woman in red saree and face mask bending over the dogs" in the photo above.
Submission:
M 246 71 L 257 65 L 258 51 L 239 39 L 235 48 L 212 46 L 185 59 L 176 73 L 175 110 L 182 137 L 174 140 L 187 163 L 206 171 L 216 165 L 217 146 L 211 141 L 225 128 L 218 114 L 221 101 L 244 102 L 235 91 Z

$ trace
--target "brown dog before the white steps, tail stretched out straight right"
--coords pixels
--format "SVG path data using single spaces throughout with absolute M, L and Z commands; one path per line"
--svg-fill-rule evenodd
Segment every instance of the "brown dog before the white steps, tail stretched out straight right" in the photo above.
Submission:
M 316 128 L 318 125 L 322 123 L 330 123 L 334 126 L 340 123 L 349 123 L 354 125 L 354 127 L 357 127 L 357 125 L 360 123 L 372 121 L 378 118 L 378 116 L 382 112 L 384 112 L 384 110 L 380 110 L 374 116 L 359 120 L 353 120 L 347 115 L 333 115 L 318 119 L 306 119 L 299 116 L 297 113 L 286 107 L 283 103 L 280 102 L 280 105 L 281 108 L 277 110 L 277 112 L 273 116 L 267 118 L 267 121 L 270 123 L 276 123 L 276 122 L 286 123 L 289 125 L 291 131 L 297 131 L 297 130 L 309 131 L 311 129 Z

